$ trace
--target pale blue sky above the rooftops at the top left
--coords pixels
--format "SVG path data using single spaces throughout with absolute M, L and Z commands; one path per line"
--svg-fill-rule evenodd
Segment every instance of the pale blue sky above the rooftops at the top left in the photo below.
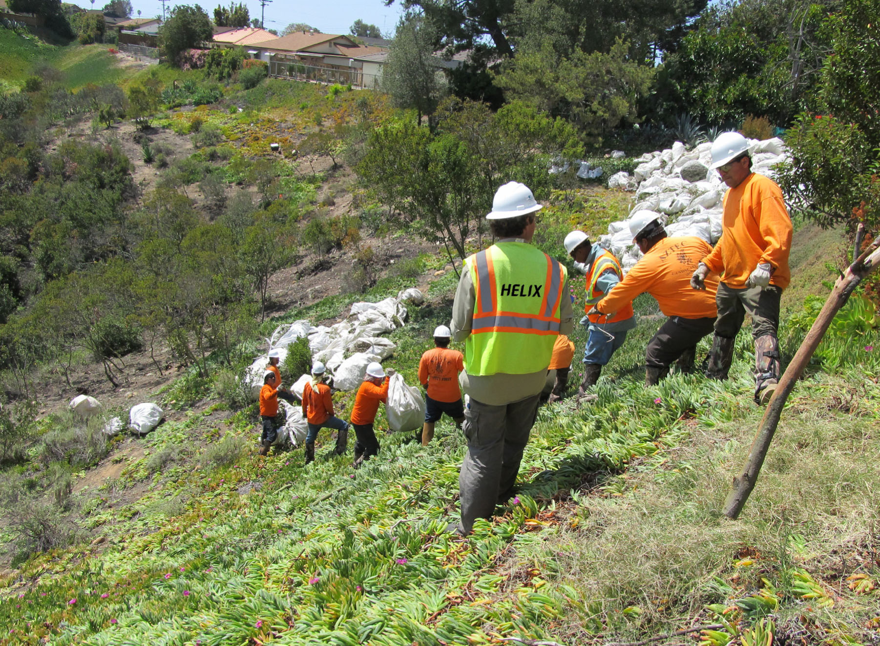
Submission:
M 96 0 L 95 9 L 99 9 L 108 0 Z M 237 4 L 238 4 L 237 0 Z M 207 11 L 209 18 L 214 18 L 217 4 L 229 6 L 231 0 L 170 0 L 165 3 L 165 11 L 177 4 L 200 4 Z M 92 4 L 85 0 L 76 3 L 85 9 L 92 9 Z M 260 18 L 260 3 L 257 0 L 244 0 L 251 18 Z M 131 0 L 137 18 L 154 18 L 162 15 L 162 3 L 158 0 Z M 348 29 L 356 19 L 378 26 L 383 34 L 393 35 L 394 27 L 400 18 L 400 1 L 386 7 L 382 0 L 325 0 L 325 2 L 296 2 L 295 0 L 273 0 L 266 5 L 266 28 L 279 32 L 290 23 L 304 22 L 322 33 L 348 33 Z

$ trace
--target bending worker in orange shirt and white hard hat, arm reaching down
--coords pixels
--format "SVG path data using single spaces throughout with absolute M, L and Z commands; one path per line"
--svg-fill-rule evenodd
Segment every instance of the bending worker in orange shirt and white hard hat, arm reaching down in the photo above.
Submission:
M 690 285 L 693 269 L 712 247 L 696 236 L 669 238 L 660 219 L 659 213 L 649 210 L 636 211 L 630 217 L 633 242 L 644 255 L 596 304 L 597 312 L 618 312 L 647 291 L 669 317 L 648 343 L 645 385 L 654 385 L 669 374 L 676 360 L 682 372 L 693 371 L 697 342 L 715 325 L 717 281 L 707 280 L 702 291 L 694 291 Z

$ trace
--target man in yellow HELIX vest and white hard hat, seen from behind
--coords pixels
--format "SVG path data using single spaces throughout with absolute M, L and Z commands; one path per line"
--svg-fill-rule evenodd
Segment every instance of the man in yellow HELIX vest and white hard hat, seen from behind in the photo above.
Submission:
M 530 244 L 539 209 L 524 184 L 497 190 L 487 216 L 497 241 L 466 259 L 452 305 L 452 334 L 466 341 L 462 385 L 470 396 L 458 476 L 463 535 L 510 496 L 554 341 L 571 332 L 566 269 Z

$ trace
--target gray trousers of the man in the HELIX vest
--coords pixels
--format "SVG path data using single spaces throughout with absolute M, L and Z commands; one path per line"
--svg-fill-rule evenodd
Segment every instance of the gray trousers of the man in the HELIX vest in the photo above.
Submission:
M 458 475 L 461 532 L 471 532 L 477 518 L 491 518 L 495 504 L 513 488 L 539 399 L 535 394 L 501 406 L 470 400 L 462 427 L 467 454 Z

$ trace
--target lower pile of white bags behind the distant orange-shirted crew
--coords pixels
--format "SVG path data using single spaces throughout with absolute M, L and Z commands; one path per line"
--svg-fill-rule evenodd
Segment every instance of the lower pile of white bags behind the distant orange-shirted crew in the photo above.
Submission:
M 381 335 L 404 325 L 407 319 L 404 302 L 421 305 L 424 296 L 420 290 L 411 287 L 400 290 L 397 297 L 387 297 L 378 303 L 355 303 L 351 305 L 348 316 L 331 327 L 315 327 L 304 319 L 279 326 L 266 340 L 268 349 L 278 349 L 281 353 L 279 363 L 283 363 L 290 343 L 306 337 L 312 363 L 320 361 L 326 365 L 327 371 L 334 377 L 334 387 L 355 390 L 363 381 L 367 363 L 380 362 L 392 356 L 397 349 L 392 341 Z M 245 383 L 254 400 L 260 396 L 267 363 L 268 356 L 261 355 L 246 370 Z M 300 378 L 291 388 L 300 399 L 303 385 L 303 378 Z

